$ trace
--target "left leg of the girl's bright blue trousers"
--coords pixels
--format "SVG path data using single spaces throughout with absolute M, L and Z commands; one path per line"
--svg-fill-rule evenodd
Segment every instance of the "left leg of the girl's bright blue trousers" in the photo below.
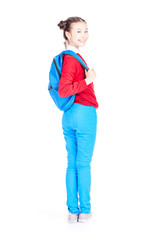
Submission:
M 62 126 L 64 138 L 66 141 L 67 150 L 67 170 L 66 170 L 66 190 L 67 190 L 67 206 L 68 211 L 72 214 L 79 214 L 78 207 L 78 184 L 77 184 L 77 170 L 76 170 L 76 157 L 77 157 L 77 140 L 75 130 L 72 125 L 71 112 L 66 112 L 63 115 Z

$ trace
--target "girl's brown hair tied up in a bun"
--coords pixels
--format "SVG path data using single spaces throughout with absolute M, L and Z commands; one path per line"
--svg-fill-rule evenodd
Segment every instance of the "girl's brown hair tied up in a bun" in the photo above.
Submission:
M 84 19 L 80 17 L 69 17 L 65 21 L 60 21 L 58 23 L 58 27 L 63 30 L 63 37 L 67 40 L 67 36 L 65 32 L 69 32 L 71 30 L 71 24 L 76 22 L 86 22 Z

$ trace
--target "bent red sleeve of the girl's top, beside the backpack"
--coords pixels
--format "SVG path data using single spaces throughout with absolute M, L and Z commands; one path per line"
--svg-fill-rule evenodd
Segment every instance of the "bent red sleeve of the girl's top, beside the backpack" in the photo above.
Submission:
M 87 88 L 85 79 L 75 81 L 77 67 L 77 60 L 73 56 L 64 56 L 62 75 L 58 88 L 60 97 L 69 97 L 71 95 L 80 93 Z

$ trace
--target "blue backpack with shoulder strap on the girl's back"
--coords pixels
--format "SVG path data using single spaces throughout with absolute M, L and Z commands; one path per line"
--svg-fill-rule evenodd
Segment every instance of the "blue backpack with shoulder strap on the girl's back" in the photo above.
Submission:
M 59 55 L 54 57 L 53 62 L 51 64 L 50 72 L 49 72 L 48 90 L 49 90 L 51 98 L 53 99 L 56 106 L 61 111 L 67 111 L 72 106 L 72 104 L 74 103 L 74 100 L 75 100 L 75 95 L 61 98 L 58 94 L 59 80 L 60 80 L 61 74 L 62 74 L 64 54 L 75 57 L 80 62 L 82 67 L 88 71 L 88 67 L 86 66 L 84 61 L 75 52 L 73 52 L 71 50 L 63 51 Z

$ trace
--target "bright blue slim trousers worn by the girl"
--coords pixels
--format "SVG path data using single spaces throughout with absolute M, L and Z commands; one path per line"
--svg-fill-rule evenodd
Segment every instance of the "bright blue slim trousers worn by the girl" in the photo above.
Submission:
M 63 113 L 62 127 L 68 153 L 66 171 L 68 211 L 72 214 L 79 214 L 79 211 L 88 214 L 91 211 L 90 164 L 96 139 L 96 108 L 74 103 Z

